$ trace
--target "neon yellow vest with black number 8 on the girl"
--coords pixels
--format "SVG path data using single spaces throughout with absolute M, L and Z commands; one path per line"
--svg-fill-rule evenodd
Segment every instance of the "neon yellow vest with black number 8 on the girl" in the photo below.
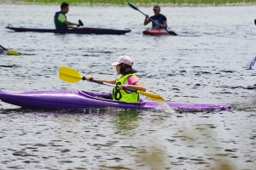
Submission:
M 139 94 L 137 92 L 130 92 L 125 90 L 119 90 L 118 86 L 125 83 L 125 80 L 128 77 L 135 77 L 137 80 L 138 78 L 133 74 L 127 74 L 124 77 L 120 76 L 117 77 L 115 80 L 116 87 L 113 88 L 112 92 L 112 99 L 125 101 L 125 102 L 139 102 Z

